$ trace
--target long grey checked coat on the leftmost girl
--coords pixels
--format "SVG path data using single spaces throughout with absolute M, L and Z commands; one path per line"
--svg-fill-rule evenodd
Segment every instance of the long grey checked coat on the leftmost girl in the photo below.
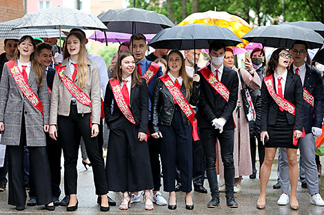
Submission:
M 43 128 L 44 124 L 49 124 L 50 121 L 50 100 L 45 73 L 43 73 L 42 87 L 38 89 L 36 74 L 31 67 L 28 84 L 43 104 L 43 117 L 41 112 L 23 95 L 14 78 L 12 78 L 8 66 L 3 66 L 0 82 L 0 122 L 4 123 L 5 128 L 1 137 L 1 144 L 3 145 L 19 146 L 21 118 L 24 114 L 27 146 L 46 146 Z

